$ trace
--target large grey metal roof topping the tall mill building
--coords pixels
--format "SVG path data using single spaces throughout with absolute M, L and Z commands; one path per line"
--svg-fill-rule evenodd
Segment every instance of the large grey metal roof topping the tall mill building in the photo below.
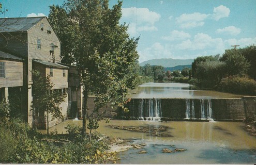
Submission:
M 0 32 L 27 31 L 46 17 L 0 18 Z

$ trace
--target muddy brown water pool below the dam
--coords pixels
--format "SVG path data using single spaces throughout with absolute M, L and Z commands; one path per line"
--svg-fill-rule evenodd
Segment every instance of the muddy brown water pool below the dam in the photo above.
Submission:
M 50 128 L 66 133 L 67 123 L 82 126 L 82 121 L 67 120 Z M 97 129 L 102 134 L 130 139 L 130 143 L 147 144 L 144 149 L 130 149 L 118 153 L 117 163 L 132 164 L 217 164 L 255 163 L 256 137 L 250 136 L 242 122 L 153 122 L 132 120 L 111 120 L 109 124 L 99 122 Z M 152 136 L 150 130 L 144 133 L 111 128 L 123 127 L 166 127 L 168 137 Z M 186 149 L 185 152 L 162 153 L 163 149 Z M 145 150 L 146 154 L 138 154 Z

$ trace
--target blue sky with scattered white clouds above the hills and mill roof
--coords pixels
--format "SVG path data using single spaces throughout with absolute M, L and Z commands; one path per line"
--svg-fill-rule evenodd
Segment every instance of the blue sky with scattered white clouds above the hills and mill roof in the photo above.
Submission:
M 64 0 L 0 0 L 0 17 L 37 17 Z M 110 0 L 109 7 L 117 4 Z M 120 23 L 140 37 L 139 62 L 222 55 L 231 45 L 256 45 L 256 0 L 124 0 Z

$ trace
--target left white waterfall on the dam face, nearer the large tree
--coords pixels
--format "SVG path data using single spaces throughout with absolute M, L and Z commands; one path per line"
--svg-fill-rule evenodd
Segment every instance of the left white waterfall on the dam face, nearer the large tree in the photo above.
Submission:
M 145 106 L 144 106 L 145 102 Z M 141 116 L 139 120 L 148 120 L 148 121 L 160 121 L 161 120 L 161 100 L 159 98 L 147 98 L 140 99 L 139 101 L 139 112 Z

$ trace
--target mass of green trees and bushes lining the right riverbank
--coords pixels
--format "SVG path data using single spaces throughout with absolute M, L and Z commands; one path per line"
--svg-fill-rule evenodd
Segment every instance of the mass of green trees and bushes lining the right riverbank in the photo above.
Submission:
M 256 94 L 256 46 L 225 50 L 223 55 L 197 57 L 192 76 L 197 86 L 239 94 Z

